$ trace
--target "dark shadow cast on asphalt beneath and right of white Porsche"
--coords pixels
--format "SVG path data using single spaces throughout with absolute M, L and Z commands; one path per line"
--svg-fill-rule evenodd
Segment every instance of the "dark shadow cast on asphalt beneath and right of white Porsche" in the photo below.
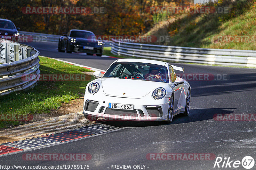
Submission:
M 213 109 L 191 109 L 188 116 L 174 116 L 170 124 L 182 124 L 213 119 L 216 114 L 230 114 L 237 108 L 213 108 Z M 149 121 L 103 121 L 101 124 L 107 124 L 115 127 L 146 127 L 168 125 L 166 122 Z

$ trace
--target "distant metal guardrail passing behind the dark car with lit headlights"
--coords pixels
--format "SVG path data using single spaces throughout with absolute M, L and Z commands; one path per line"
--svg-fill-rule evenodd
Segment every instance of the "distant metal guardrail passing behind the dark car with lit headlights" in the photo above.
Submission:
M 60 35 L 53 35 L 53 34 L 43 34 L 43 33 L 36 33 L 36 32 L 25 32 L 25 31 L 19 31 L 20 35 L 28 36 L 27 39 L 24 39 L 23 41 L 28 42 L 35 42 L 35 41 L 45 41 L 45 42 L 59 42 Z M 105 46 L 111 46 L 111 41 L 104 40 Z

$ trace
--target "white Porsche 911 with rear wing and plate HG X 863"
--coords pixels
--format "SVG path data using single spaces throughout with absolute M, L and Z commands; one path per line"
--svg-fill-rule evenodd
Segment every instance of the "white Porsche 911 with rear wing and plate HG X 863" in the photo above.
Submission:
M 145 59 L 118 59 L 101 77 L 87 84 L 84 117 L 97 120 L 168 121 L 174 115 L 187 116 L 191 87 L 177 77 L 182 67 Z

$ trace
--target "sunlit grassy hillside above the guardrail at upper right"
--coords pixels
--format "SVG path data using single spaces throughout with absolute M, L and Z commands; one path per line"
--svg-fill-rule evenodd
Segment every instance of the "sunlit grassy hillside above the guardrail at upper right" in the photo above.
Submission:
M 156 26 L 148 35 L 169 36 L 158 45 L 256 50 L 256 1 L 218 0 L 206 4 L 227 13 L 198 13 L 177 16 L 169 25 Z

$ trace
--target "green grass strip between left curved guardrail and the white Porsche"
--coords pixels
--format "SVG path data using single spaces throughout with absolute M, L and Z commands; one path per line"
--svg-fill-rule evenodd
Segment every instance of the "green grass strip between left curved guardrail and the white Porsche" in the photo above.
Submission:
M 67 64 L 61 61 L 39 57 L 40 74 L 83 74 L 91 70 Z M 88 81 L 39 81 L 33 89 L 12 93 L 0 97 L 0 128 L 6 125 L 18 125 L 20 121 L 5 121 L 7 114 L 49 113 L 57 109 L 61 103 L 70 103 L 84 95 Z M 87 78 L 86 78 L 87 80 Z

